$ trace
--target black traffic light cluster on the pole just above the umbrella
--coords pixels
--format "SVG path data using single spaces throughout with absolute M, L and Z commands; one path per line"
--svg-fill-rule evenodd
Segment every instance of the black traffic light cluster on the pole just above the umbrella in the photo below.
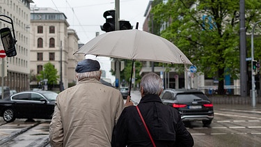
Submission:
M 100 26 L 102 31 L 115 31 L 115 10 L 106 10 L 103 13 L 103 17 L 106 19 L 106 22 Z M 132 29 L 132 25 L 129 21 L 120 20 L 120 30 Z

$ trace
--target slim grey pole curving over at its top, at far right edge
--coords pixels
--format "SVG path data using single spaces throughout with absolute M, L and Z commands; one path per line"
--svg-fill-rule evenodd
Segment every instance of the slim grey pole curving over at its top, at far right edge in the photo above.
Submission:
M 254 60 L 254 30 L 255 26 L 260 23 L 260 21 L 256 22 L 252 29 L 251 34 L 251 76 L 252 76 L 252 107 L 255 107 L 255 75 L 253 70 L 253 60 Z

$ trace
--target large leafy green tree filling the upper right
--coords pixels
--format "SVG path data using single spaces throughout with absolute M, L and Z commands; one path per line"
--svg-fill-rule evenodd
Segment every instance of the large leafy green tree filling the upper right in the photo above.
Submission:
M 261 2 L 246 0 L 246 34 L 260 20 Z M 168 0 L 152 8 L 157 22 L 170 22 L 161 36 L 171 40 L 209 78 L 219 80 L 239 75 L 239 1 Z

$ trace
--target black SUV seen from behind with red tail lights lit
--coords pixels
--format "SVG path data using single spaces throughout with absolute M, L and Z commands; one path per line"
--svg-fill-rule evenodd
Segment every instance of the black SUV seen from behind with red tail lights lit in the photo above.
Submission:
M 210 125 L 214 118 L 212 102 L 203 92 L 192 89 L 166 89 L 161 94 L 164 105 L 174 107 L 180 112 L 182 121 L 202 121 Z

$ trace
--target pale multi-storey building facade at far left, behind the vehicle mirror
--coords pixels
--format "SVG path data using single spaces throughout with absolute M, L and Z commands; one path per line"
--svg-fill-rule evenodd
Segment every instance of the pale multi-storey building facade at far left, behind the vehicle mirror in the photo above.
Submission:
M 31 0 L 0 0 L 0 13 L 6 15 L 13 20 L 14 28 L 11 24 L 0 21 L 0 28 L 8 27 L 11 31 L 15 31 L 15 48 L 17 55 L 13 57 L 5 57 L 1 59 L 5 65 L 6 76 L 3 78 L 4 86 L 15 89 L 17 92 L 29 90 L 29 74 L 30 74 L 30 3 Z M 6 20 L 4 17 L 1 19 Z M 12 32 L 13 35 L 13 32 Z M 2 42 L 0 43 L 3 49 Z M 0 79 L 1 81 L 1 79 Z

